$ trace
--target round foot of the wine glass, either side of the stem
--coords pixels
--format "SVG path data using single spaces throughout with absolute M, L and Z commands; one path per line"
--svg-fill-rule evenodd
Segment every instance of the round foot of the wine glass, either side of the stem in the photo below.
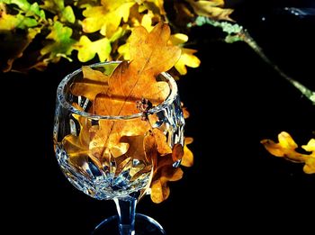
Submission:
M 163 230 L 162 226 L 147 215 L 136 213 L 135 220 L 135 230 L 136 233 L 132 235 L 165 235 L 166 232 Z M 110 218 L 105 219 L 100 224 L 98 224 L 92 235 L 120 235 L 118 230 L 118 216 L 113 215 Z

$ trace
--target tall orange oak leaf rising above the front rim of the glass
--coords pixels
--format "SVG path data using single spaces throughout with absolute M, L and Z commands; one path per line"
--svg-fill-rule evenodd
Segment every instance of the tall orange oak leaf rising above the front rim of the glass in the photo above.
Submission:
M 135 101 L 144 97 L 152 104 L 159 104 L 166 99 L 168 85 L 157 82 L 156 77 L 172 68 L 180 57 L 177 47 L 166 45 L 169 37 L 169 27 L 164 23 L 158 23 L 150 33 L 141 26 L 134 29 L 130 36 L 131 62 L 123 61 L 109 79 L 107 94 L 96 96 L 96 113 L 138 113 Z

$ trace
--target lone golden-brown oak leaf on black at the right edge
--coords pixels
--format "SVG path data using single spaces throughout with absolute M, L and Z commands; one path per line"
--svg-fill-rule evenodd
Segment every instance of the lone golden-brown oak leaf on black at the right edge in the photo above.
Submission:
M 295 149 L 298 148 L 298 145 L 287 132 L 281 132 L 278 135 L 278 140 L 278 143 L 273 140 L 261 140 L 261 143 L 275 157 L 305 163 L 304 172 L 307 174 L 315 173 L 315 139 L 311 139 L 307 145 L 302 146 L 303 149 L 311 152 L 310 155 L 297 152 Z

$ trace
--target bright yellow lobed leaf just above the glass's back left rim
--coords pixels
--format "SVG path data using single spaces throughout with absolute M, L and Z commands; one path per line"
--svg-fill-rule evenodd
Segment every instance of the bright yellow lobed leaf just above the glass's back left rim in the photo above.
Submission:
M 101 62 L 110 58 L 112 51 L 111 42 L 106 39 L 100 39 L 97 41 L 90 41 L 85 35 L 81 36 L 80 41 L 74 45 L 75 50 L 78 51 L 77 59 L 81 62 L 94 59 L 95 54 Z

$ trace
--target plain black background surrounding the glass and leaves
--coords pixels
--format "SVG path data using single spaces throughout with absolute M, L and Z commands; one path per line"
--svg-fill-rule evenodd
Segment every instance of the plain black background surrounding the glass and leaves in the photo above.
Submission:
M 286 73 L 315 90 L 314 16 L 278 11 L 284 5 L 311 4 L 249 2 L 234 5 L 234 18 Z M 216 40 L 220 35 L 208 26 L 191 32 L 202 65 L 178 81 L 191 113 L 185 135 L 194 138 L 195 164 L 170 184 L 165 203 L 146 197 L 137 210 L 159 221 L 170 235 L 309 234 L 315 177 L 304 174 L 300 164 L 269 155 L 260 140 L 276 140 L 280 131 L 288 131 L 306 144 L 314 138 L 314 106 L 246 44 Z M 96 201 L 70 185 L 54 157 L 56 88 L 78 67 L 62 60 L 45 72 L 1 74 L 1 192 L 7 234 L 89 234 L 115 213 L 113 202 Z

